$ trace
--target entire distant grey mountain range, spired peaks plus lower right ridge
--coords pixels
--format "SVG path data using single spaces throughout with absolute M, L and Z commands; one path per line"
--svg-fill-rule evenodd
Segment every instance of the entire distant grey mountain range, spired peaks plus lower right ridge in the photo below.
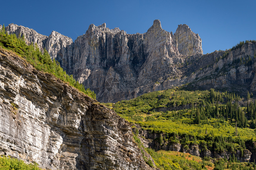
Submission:
M 185 24 L 178 25 L 174 35 L 163 30 L 159 20 L 143 34 L 111 30 L 105 23 L 91 24 L 75 42 L 55 31 L 46 37 L 14 24 L 6 30 L 46 48 L 68 74 L 94 90 L 100 102 L 184 84 L 240 94 L 256 91 L 255 43 L 243 44 L 228 54 L 215 51 L 204 55 L 199 35 Z

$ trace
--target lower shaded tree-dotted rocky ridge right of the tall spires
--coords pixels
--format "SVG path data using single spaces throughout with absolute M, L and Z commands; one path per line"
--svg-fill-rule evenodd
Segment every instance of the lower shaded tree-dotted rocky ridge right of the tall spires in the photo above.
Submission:
M 242 95 L 255 93 L 256 43 L 246 43 L 224 57 L 224 51 L 215 51 L 198 59 L 200 68 L 192 73 L 188 82 L 201 89 L 226 89 Z M 244 94 L 243 94 L 244 93 Z

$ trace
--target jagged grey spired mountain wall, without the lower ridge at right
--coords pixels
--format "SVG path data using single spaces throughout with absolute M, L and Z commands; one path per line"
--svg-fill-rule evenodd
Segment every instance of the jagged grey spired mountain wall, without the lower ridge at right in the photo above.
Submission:
M 173 35 L 162 29 L 159 20 L 154 20 L 143 34 L 126 34 L 119 28 L 110 30 L 105 23 L 98 27 L 91 24 L 74 43 L 55 31 L 49 37 L 32 35 L 34 30 L 14 24 L 8 25 L 6 31 L 24 35 L 26 41 L 46 48 L 52 59 L 58 60 L 85 87 L 94 90 L 97 99 L 103 102 L 150 92 L 159 79 L 155 74 L 160 79 L 166 79 L 173 71 L 179 74 L 179 70 L 169 65 L 182 63 L 182 55 L 202 54 L 202 40 L 188 26 L 179 25 Z M 182 38 L 183 35 L 188 38 Z M 115 88 L 111 88 L 113 85 Z

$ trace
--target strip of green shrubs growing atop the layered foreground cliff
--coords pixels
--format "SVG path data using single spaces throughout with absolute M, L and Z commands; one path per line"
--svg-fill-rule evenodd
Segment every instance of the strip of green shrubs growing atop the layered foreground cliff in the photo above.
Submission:
M 49 53 L 44 49 L 43 54 L 40 52 L 37 44 L 26 45 L 24 38 L 16 37 L 15 34 L 8 35 L 5 32 L 4 26 L 0 30 L 0 46 L 5 49 L 12 50 L 19 54 L 27 62 L 32 64 L 37 70 L 51 73 L 62 81 L 68 82 L 71 86 L 79 89 L 88 96 L 96 99 L 96 94 L 90 89 L 85 89 L 82 84 L 75 81 L 73 75 L 66 74 L 63 68 L 60 67 L 59 62 L 51 60 Z

